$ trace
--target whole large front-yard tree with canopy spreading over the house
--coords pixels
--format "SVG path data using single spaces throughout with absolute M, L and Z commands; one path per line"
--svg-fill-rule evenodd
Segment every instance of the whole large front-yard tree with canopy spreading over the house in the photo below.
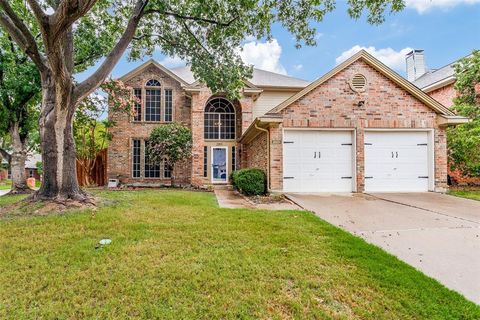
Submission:
M 314 45 L 315 22 L 335 0 L 0 0 L 0 25 L 35 63 L 43 88 L 40 112 L 44 162 L 34 199 L 88 201 L 75 175 L 72 122 L 82 100 L 112 72 L 122 55 L 178 56 L 214 92 L 238 95 L 252 69 L 242 41 L 272 37 L 272 25 L 292 33 L 295 45 Z M 349 0 L 348 14 L 373 24 L 403 0 Z M 127 50 L 128 49 L 128 50 Z M 98 67 L 94 67 L 98 63 Z M 92 67 L 77 83 L 74 74 Z

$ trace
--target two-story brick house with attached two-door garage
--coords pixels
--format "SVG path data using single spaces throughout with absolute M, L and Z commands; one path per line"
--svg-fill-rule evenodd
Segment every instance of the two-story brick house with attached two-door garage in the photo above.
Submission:
M 467 120 L 365 51 L 310 84 L 255 70 L 238 101 L 154 61 L 121 80 L 142 101 L 135 117 L 109 114 L 108 177 L 127 185 L 169 183 L 145 140 L 177 121 L 193 133 L 193 157 L 175 169 L 185 184 L 225 184 L 233 170 L 256 167 L 272 191 L 444 191 L 445 128 Z

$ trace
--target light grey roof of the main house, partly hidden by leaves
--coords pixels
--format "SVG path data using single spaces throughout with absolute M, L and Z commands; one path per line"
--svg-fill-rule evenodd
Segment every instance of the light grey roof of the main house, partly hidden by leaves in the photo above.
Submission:
M 195 82 L 192 71 L 189 66 L 170 69 L 171 72 L 182 78 L 185 82 L 192 84 Z M 253 69 L 253 77 L 249 79 L 257 87 L 298 87 L 304 88 L 310 84 L 310 81 L 285 76 L 283 74 Z

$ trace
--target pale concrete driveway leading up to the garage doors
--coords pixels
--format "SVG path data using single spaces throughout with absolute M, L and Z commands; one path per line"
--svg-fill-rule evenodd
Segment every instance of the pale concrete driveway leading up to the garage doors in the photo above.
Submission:
M 288 197 L 480 304 L 480 201 L 438 193 Z

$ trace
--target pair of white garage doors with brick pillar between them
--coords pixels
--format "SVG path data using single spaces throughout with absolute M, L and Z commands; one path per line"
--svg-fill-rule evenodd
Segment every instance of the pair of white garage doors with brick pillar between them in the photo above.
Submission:
M 356 130 L 285 129 L 283 190 L 355 192 L 360 172 L 365 192 L 432 189 L 431 131 L 365 130 L 364 143 L 358 146 L 356 134 Z

